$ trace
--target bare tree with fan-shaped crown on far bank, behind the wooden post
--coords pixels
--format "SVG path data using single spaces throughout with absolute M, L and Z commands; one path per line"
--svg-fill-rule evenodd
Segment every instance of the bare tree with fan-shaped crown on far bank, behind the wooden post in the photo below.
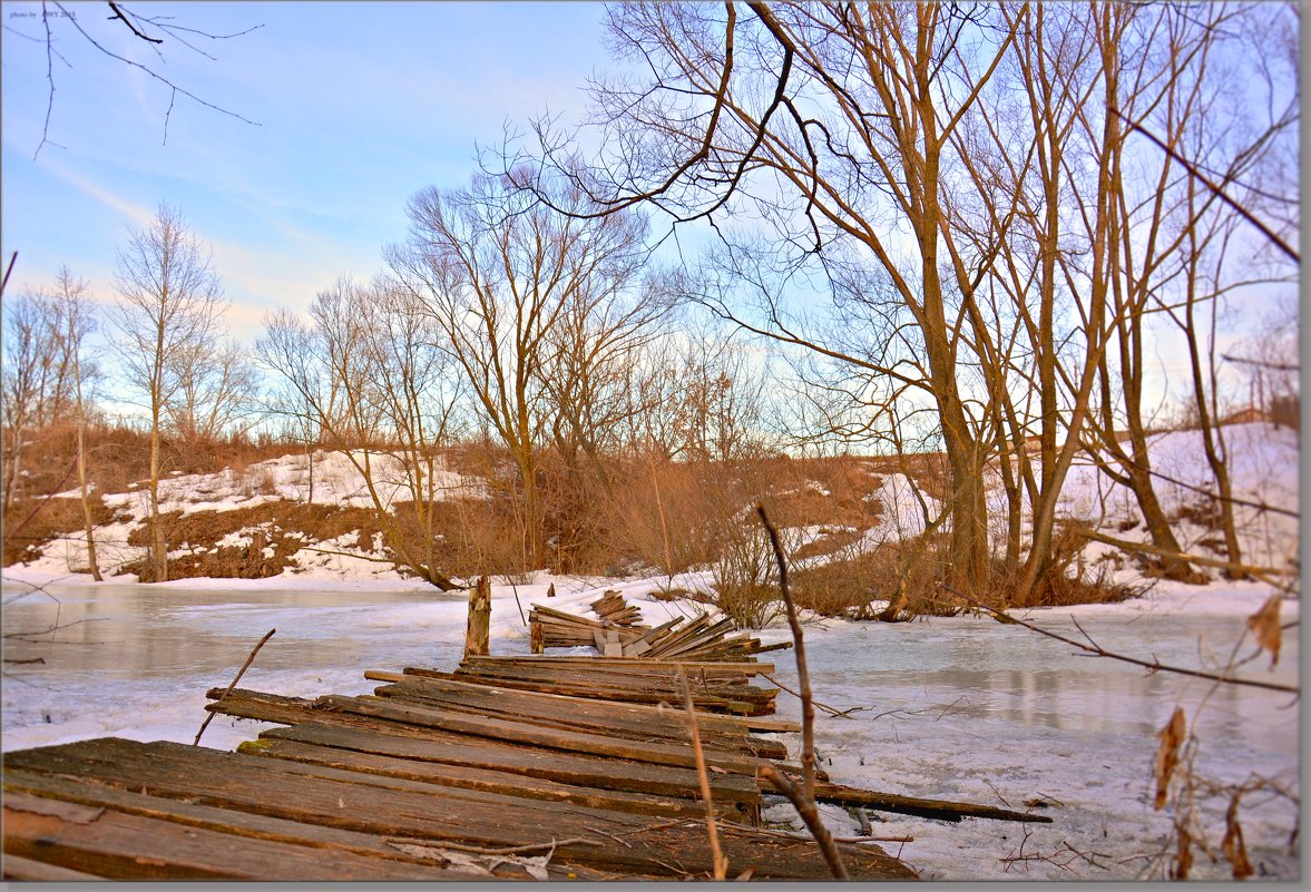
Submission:
M 577 191 L 561 200 L 582 204 Z M 617 312 L 599 321 L 635 283 L 644 220 L 570 217 L 489 176 L 476 176 L 465 190 L 418 193 L 409 216 L 409 242 L 389 250 L 391 266 L 427 308 L 481 418 L 510 452 L 524 513 L 523 562 L 540 567 L 540 452 L 553 428 L 564 430 L 551 376 L 565 369 L 578 380 L 579 356 L 561 351 L 595 356 L 644 317 Z M 565 424 L 582 420 L 576 413 Z

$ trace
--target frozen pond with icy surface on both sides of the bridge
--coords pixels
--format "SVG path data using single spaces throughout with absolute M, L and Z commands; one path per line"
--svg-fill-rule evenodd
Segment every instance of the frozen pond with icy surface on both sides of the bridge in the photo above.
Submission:
M 214 583 L 208 583 L 212 585 Z M 541 587 L 520 588 L 523 609 Z M 190 743 L 203 722 L 205 692 L 225 686 L 250 647 L 273 627 L 241 685 L 315 697 L 364 693 L 368 668 L 454 668 L 464 637 L 464 596 L 429 591 L 278 591 L 149 585 L 51 587 L 16 597 L 4 587 L 7 635 L 63 626 L 29 641 L 5 641 L 4 749 L 117 735 Z M 627 592 L 648 621 L 657 605 Z M 583 612 L 595 595 L 562 596 Z M 1162 663 L 1217 669 L 1244 629 L 1245 609 L 1162 610 L 1150 603 L 1042 610 L 1028 618 L 1078 638 L 1071 613 L 1097 643 Z M 1295 609 L 1290 608 L 1295 617 Z M 1285 620 L 1291 618 L 1289 613 Z M 770 630 L 767 641 L 785 633 Z M 957 799 L 1024 811 L 1047 800 L 1050 825 L 968 820 L 961 824 L 884 815 L 877 836 L 924 879 L 1134 879 L 1152 875 L 1168 845 L 1165 812 L 1152 809 L 1156 732 L 1183 706 L 1200 741 L 1196 774 L 1221 783 L 1260 775 L 1297 791 L 1299 706 L 1287 694 L 1214 686 L 1108 659 L 1017 626 L 975 617 L 911 623 L 825 622 L 808 626 L 815 698 L 847 718 L 821 711 L 817 749 L 834 781 L 888 792 Z M 1252 650 L 1251 641 L 1243 652 Z M 493 652 L 527 652 L 513 592 L 493 597 Z M 794 686 L 792 651 L 767 655 L 776 680 Z M 1262 656 L 1243 673 L 1297 684 L 1297 633 L 1285 637 L 1272 673 Z M 1203 703 L 1205 699 L 1205 705 Z M 788 694 L 780 714 L 798 716 Z M 216 718 L 203 743 L 229 748 L 265 727 Z M 800 735 L 788 735 L 796 753 Z M 1201 821 L 1219 845 L 1224 800 L 1203 796 Z M 770 809 L 787 820 L 789 806 Z M 1255 791 L 1243 800 L 1243 829 L 1257 875 L 1295 879 L 1287 844 L 1295 809 Z M 855 820 L 825 807 L 839 834 Z M 1028 832 L 1027 832 L 1028 829 Z M 1223 863 L 1198 857 L 1197 871 L 1227 878 Z M 1156 868 L 1159 876 L 1159 867 Z

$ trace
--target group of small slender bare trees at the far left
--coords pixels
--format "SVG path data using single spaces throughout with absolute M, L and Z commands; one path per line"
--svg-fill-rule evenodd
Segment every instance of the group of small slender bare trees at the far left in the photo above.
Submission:
M 249 427 L 245 411 L 257 381 L 243 352 L 222 342 L 227 309 L 222 286 L 208 249 L 178 211 L 161 204 L 147 227 L 128 231 L 113 287 L 117 303 L 101 308 L 90 284 L 62 267 L 52 288 L 5 303 L 4 512 L 8 519 L 20 495 L 50 495 L 22 492 L 24 453 L 33 437 L 75 426 L 76 460 L 56 489 L 63 489 L 76 469 L 87 558 L 90 572 L 100 578 L 85 432 L 96 415 L 93 389 L 111 385 L 122 401 L 144 414 L 151 578 L 164 582 L 168 542 L 159 520 L 161 439 L 195 447 Z M 110 322 L 104 326 L 108 344 L 93 347 L 90 335 L 102 327 L 101 317 Z M 108 367 L 117 375 L 110 376 Z

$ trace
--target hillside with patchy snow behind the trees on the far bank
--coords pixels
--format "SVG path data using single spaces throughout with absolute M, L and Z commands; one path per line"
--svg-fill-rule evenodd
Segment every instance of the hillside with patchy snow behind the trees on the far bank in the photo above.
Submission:
M 1231 453 L 1235 519 L 1240 545 L 1247 565 L 1273 572 L 1297 571 L 1298 567 L 1298 432 L 1287 427 L 1276 428 L 1264 423 L 1235 424 L 1226 430 Z M 353 461 L 354 458 L 354 461 Z M 1200 437 L 1193 431 L 1175 431 L 1158 435 L 1152 441 L 1154 470 L 1158 495 L 1172 519 L 1176 536 L 1188 554 L 1223 559 L 1223 540 L 1214 521 L 1214 491 L 1211 474 L 1201 451 Z M 231 521 L 249 517 L 249 523 L 228 523 L 216 517 L 207 527 L 222 530 L 210 541 L 169 542 L 169 561 L 186 566 L 190 559 L 218 554 L 220 550 L 256 548 L 258 557 L 278 563 L 253 574 L 257 578 L 282 580 L 372 580 L 401 583 L 406 574 L 388 563 L 388 553 L 382 534 L 370 533 L 367 524 L 342 529 L 330 537 L 316 538 L 305 529 L 296 529 L 296 507 L 324 506 L 334 510 L 374 510 L 374 499 L 364 477 L 359 472 L 358 453 L 319 451 L 313 456 L 287 455 L 246 466 L 243 473 L 224 469 L 216 474 L 177 474 L 160 482 L 161 513 L 176 512 L 181 517 L 229 515 Z M 384 506 L 395 506 L 410 498 L 405 489 L 404 469 L 397 458 L 387 455 L 370 456 L 374 490 Z M 877 516 L 865 528 L 829 525 L 802 525 L 787 530 L 788 542 L 794 549 L 812 545 L 805 563 L 814 566 L 860 551 L 872 542 L 899 541 L 919 536 L 924 530 L 924 510 L 919 504 L 909 479 L 903 474 L 882 474 L 865 496 L 878 506 Z M 438 500 L 459 499 L 476 503 L 488 496 L 486 482 L 477 477 L 440 469 L 434 481 Z M 819 483 L 810 483 L 822 500 L 832 494 Z M 1003 492 L 992 481 L 994 516 L 1004 517 Z M 58 498 L 75 499 L 77 491 L 59 494 Z M 94 529 L 102 571 L 108 578 L 132 582 L 135 576 L 125 570 L 132 561 L 146 554 L 144 527 L 147 496 L 142 486 L 125 492 L 101 496 L 113 512 L 110 523 Z M 931 495 L 919 499 L 936 511 Z M 358 513 L 355 516 L 358 516 Z M 1058 521 L 1084 524 L 1116 538 L 1139 542 L 1148 536 L 1139 520 L 1133 494 L 1101 473 L 1092 462 L 1076 461 L 1071 469 L 1057 512 Z M 197 530 L 201 533 L 201 530 Z M 135 536 L 134 536 L 135 533 Z M 843 536 L 831 549 L 813 544 L 825 537 Z M 994 524 L 994 538 L 1000 540 L 1004 527 Z M 201 538 L 205 538 L 201 533 Z M 249 561 L 245 562 L 249 566 Z M 33 546 L 26 559 L 5 568 L 10 579 L 54 579 L 77 576 L 85 572 L 85 536 L 77 529 L 66 530 L 58 538 Z M 1138 565 L 1121 550 L 1100 542 L 1088 542 L 1075 572 L 1099 575 L 1106 582 L 1138 584 L 1142 582 Z M 197 575 L 195 572 L 186 575 Z M 224 578 L 241 576 L 241 565 Z M 1215 576 L 1214 571 L 1210 572 Z

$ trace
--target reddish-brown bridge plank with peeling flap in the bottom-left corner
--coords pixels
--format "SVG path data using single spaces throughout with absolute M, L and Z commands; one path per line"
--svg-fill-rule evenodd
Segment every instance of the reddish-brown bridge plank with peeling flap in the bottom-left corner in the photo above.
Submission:
M 79 809 L 79 812 L 75 812 Z M 185 828 L 105 808 L 69 806 L 28 794 L 4 799 L 4 850 L 109 879 L 225 879 L 270 882 L 473 880 L 444 870 L 271 842 L 203 828 Z

